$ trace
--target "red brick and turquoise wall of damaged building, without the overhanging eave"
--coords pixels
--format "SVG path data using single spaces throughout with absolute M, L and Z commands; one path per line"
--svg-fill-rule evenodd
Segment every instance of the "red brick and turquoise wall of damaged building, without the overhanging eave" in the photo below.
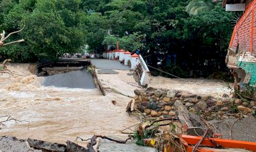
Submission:
M 247 1 L 249 2 L 249 1 Z M 241 20 L 234 27 L 229 56 L 238 56 L 237 69 L 245 70 L 251 76 L 250 85 L 256 84 L 256 0 L 252 1 Z M 238 46 L 239 44 L 239 46 Z M 238 46 L 238 53 L 236 54 Z M 231 64 L 231 63 L 229 63 Z M 229 65 L 228 64 L 228 65 Z M 232 68 L 234 69 L 234 68 Z M 245 78 L 246 81 L 246 78 Z

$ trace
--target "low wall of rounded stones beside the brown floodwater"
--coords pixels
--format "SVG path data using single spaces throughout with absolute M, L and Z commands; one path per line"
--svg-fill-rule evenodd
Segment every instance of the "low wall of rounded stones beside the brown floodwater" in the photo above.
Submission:
M 242 100 L 232 98 L 213 98 L 177 90 L 150 87 L 146 91 L 135 89 L 134 92 L 135 108 L 150 117 L 177 116 L 177 108 L 174 106 L 177 100 L 180 100 L 190 112 L 205 120 L 241 118 L 256 109 L 254 101 L 242 102 Z

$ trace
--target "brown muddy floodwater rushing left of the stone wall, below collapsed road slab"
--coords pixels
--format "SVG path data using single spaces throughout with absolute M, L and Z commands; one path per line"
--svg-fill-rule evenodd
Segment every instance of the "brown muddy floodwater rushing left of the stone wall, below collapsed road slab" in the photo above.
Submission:
M 126 138 L 119 132 L 136 124 L 136 116 L 125 112 L 129 98 L 94 89 L 42 86 L 44 77 L 36 77 L 28 65 L 7 67 L 19 75 L 0 75 L 0 116 L 18 120 L 1 126 L 0 135 L 65 143 L 76 137 L 88 139 L 94 134 Z M 70 76 L 70 75 L 69 75 Z M 81 76 L 81 75 L 80 75 Z M 112 100 L 116 100 L 114 105 Z M 1 118 L 4 120 L 5 118 Z

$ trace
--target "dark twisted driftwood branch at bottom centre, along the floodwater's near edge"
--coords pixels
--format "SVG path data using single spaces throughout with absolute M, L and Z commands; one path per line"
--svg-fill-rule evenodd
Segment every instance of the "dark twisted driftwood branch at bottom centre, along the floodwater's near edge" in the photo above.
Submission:
M 76 138 L 76 141 L 77 141 L 77 139 L 80 139 L 80 140 L 82 140 L 82 141 L 89 141 L 89 140 L 90 140 L 90 143 L 88 143 L 87 148 L 88 148 L 89 152 L 96 152 L 96 151 L 94 150 L 94 145 L 96 145 L 96 143 L 97 143 L 97 141 L 96 141 L 97 138 L 108 139 L 109 141 L 114 141 L 114 142 L 116 142 L 116 143 L 126 143 L 127 141 L 131 140 L 131 135 L 128 135 L 128 138 L 125 139 L 125 141 L 118 141 L 118 140 L 111 139 L 111 138 L 109 138 L 109 137 L 102 136 L 102 135 L 94 135 L 91 139 L 82 139 L 82 138 L 80 138 L 80 137 L 77 137 L 77 138 Z

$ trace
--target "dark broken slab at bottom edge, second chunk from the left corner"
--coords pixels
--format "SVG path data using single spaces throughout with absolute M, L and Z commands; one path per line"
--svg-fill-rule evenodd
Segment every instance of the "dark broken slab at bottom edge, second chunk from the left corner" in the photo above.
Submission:
M 64 152 L 66 149 L 66 145 L 60 143 L 50 143 L 30 138 L 28 138 L 27 141 L 30 147 L 41 149 L 42 151 Z

